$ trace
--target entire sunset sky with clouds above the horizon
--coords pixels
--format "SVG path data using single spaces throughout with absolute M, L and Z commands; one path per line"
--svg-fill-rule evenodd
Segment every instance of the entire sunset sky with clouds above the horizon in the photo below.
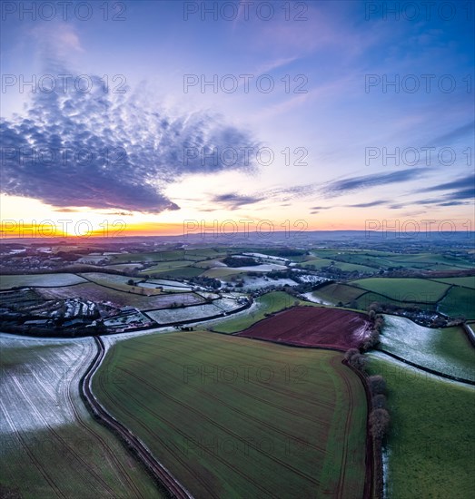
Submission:
M 473 6 L 3 2 L 2 235 L 473 229 Z

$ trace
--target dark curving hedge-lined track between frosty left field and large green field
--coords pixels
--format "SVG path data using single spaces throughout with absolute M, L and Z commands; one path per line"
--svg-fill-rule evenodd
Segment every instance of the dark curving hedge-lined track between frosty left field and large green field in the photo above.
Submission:
M 97 353 L 79 382 L 79 391 L 84 400 L 84 405 L 95 419 L 98 419 L 114 435 L 120 438 L 124 446 L 145 466 L 145 469 L 153 476 L 160 488 L 164 488 L 168 494 L 177 499 L 193 499 L 193 495 L 153 456 L 139 438 L 111 416 L 94 396 L 91 380 L 105 356 L 103 339 L 94 337 L 94 341 L 97 346 Z

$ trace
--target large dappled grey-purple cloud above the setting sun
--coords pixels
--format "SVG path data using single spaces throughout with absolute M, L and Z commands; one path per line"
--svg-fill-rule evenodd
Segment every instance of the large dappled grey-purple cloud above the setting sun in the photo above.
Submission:
M 255 167 L 245 151 L 259 144 L 218 116 L 171 116 L 118 83 L 109 90 L 125 93 L 104 93 L 97 76 L 68 83 L 39 89 L 25 115 L 0 123 L 6 194 L 56 208 L 159 213 L 179 209 L 163 190 L 183 175 Z

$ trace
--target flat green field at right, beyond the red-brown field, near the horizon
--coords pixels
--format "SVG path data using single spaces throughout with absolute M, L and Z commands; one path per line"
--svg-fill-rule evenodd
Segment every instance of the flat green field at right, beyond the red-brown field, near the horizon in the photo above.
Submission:
M 434 282 L 428 279 L 370 278 L 351 281 L 351 286 L 358 286 L 388 298 L 407 302 L 438 301 L 449 284 Z

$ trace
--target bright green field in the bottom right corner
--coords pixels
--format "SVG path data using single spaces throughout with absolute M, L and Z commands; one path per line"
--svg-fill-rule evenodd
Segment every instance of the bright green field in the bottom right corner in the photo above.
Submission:
M 369 366 L 388 386 L 386 496 L 470 499 L 475 494 L 475 389 L 386 358 L 371 354 Z

